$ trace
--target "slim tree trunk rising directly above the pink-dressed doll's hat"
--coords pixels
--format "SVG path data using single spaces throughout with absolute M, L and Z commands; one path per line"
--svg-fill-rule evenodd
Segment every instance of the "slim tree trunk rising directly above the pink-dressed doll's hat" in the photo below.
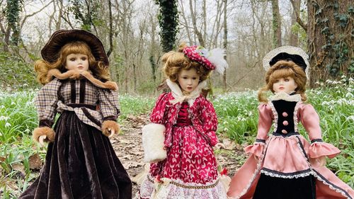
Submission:
M 278 0 L 271 0 L 273 11 L 273 47 L 282 45 L 282 23 L 279 12 Z

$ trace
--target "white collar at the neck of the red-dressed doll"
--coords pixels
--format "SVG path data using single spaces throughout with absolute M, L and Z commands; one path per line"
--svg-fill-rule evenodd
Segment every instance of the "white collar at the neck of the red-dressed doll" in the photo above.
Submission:
M 183 101 L 187 101 L 189 106 L 193 105 L 195 98 L 198 98 L 198 96 L 200 96 L 200 92 L 202 91 L 202 89 L 204 89 L 205 86 L 207 86 L 207 82 L 202 81 L 198 84 L 197 88 L 195 88 L 194 91 L 192 91 L 188 96 L 185 96 L 182 93 L 181 88 L 180 86 L 178 86 L 178 84 L 174 83 L 170 79 L 166 79 L 166 84 L 171 89 L 171 93 L 174 99 L 171 100 L 170 102 L 173 105 L 176 103 L 182 103 Z

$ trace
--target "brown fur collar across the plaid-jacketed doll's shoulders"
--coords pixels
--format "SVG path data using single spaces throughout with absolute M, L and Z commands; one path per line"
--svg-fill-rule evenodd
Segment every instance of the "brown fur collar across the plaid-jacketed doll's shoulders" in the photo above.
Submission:
M 86 79 L 91 81 L 95 86 L 98 86 L 103 89 L 110 89 L 118 91 L 118 86 L 114 81 L 101 81 L 96 79 L 90 72 L 78 72 L 76 70 L 69 70 L 67 72 L 60 72 L 58 69 L 50 69 L 47 73 L 47 78 L 52 79 L 52 76 L 55 76 L 57 79 L 79 79 L 81 76 L 84 76 Z

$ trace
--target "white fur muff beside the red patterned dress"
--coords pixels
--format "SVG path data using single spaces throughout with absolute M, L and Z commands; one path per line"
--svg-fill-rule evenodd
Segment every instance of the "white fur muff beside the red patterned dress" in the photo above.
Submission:
M 166 127 L 156 123 L 149 123 L 142 127 L 142 147 L 144 148 L 144 161 L 157 162 L 166 159 L 164 149 Z

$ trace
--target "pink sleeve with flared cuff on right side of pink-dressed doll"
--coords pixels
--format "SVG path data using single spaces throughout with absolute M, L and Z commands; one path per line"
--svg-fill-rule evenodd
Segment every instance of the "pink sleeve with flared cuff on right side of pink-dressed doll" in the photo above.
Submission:
M 318 158 L 328 156 L 336 157 L 341 152 L 333 144 L 322 141 L 321 127 L 319 126 L 319 115 L 310 104 L 302 104 L 298 110 L 299 118 L 305 130 L 309 134 L 312 144 L 309 147 L 309 157 Z

